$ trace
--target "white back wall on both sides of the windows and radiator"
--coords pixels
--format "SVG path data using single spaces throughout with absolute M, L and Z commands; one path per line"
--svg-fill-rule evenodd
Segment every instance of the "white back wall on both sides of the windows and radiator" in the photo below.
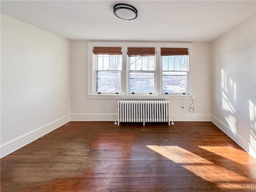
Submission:
M 88 99 L 88 41 L 72 41 L 71 120 L 111 120 L 117 118 L 118 99 Z M 170 100 L 174 121 L 210 121 L 211 72 L 210 43 L 194 43 L 194 113 L 188 111 L 192 100 Z

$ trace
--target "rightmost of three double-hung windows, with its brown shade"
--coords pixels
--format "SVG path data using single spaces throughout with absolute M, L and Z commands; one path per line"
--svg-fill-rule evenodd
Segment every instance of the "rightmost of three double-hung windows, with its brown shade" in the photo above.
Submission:
M 162 82 L 165 94 L 188 93 L 188 48 L 161 48 Z

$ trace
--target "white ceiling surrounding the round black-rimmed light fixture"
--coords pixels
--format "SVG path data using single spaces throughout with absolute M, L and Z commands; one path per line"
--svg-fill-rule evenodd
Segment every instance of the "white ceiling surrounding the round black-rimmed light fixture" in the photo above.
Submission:
M 211 42 L 252 18 L 255 2 L 1 0 L 1 13 L 71 40 Z M 118 3 L 136 7 L 138 18 L 117 18 Z

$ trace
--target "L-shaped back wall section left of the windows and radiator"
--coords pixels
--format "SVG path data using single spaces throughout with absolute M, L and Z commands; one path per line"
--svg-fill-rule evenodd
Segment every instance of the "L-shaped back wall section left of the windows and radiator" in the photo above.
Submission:
M 88 99 L 88 41 L 71 42 L 71 120 L 115 120 L 115 99 Z

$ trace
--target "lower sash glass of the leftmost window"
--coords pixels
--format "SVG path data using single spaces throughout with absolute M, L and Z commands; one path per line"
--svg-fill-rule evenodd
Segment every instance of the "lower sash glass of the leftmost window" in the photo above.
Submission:
M 96 92 L 121 92 L 121 72 L 97 71 Z

